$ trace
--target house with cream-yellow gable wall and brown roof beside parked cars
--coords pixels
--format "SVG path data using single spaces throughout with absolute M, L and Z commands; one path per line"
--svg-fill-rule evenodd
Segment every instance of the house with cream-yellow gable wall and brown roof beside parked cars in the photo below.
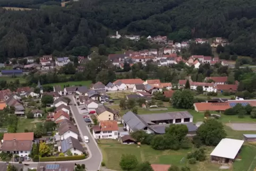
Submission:
M 114 112 L 112 109 L 105 105 L 99 105 L 96 109 L 96 116 L 99 121 L 113 121 L 114 120 Z

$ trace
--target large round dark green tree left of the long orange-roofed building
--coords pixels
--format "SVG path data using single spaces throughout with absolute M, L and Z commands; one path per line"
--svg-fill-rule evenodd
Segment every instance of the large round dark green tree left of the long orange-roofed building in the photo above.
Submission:
M 193 106 L 194 95 L 191 90 L 175 91 L 172 104 L 176 108 L 190 109 Z

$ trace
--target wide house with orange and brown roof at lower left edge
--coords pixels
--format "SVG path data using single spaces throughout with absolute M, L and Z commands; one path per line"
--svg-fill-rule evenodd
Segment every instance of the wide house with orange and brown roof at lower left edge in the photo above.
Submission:
M 33 132 L 4 133 L 0 151 L 10 152 L 20 157 L 29 156 L 31 154 L 33 140 Z

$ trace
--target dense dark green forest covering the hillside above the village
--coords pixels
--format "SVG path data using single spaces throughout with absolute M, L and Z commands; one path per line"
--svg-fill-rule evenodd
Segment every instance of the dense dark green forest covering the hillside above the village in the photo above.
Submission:
M 6 6 L 29 7 L 40 1 L 12 0 Z M 5 6 L 6 1 L 0 1 Z M 59 2 L 60 4 L 60 2 Z M 98 0 L 43 5 L 39 10 L 0 10 L 0 55 L 20 57 L 73 48 L 88 50 L 109 33 L 167 35 L 181 41 L 224 37 L 231 54 L 256 54 L 256 1 L 251 0 Z M 85 48 L 85 49 L 84 49 Z M 2 59 L 4 59 L 2 57 Z

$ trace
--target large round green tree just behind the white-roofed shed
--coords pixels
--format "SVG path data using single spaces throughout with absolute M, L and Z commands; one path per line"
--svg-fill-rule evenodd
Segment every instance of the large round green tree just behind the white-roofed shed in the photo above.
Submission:
M 197 130 L 198 138 L 207 146 L 216 146 L 226 135 L 223 124 L 216 119 L 204 121 Z

